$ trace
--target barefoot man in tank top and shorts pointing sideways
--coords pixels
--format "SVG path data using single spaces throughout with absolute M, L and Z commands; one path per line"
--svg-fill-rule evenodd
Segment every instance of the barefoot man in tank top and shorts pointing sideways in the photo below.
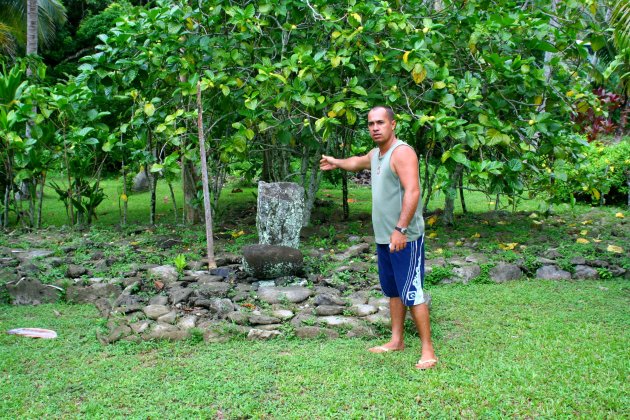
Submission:
M 368 128 L 376 148 L 367 155 L 347 159 L 322 155 L 320 169 L 371 169 L 372 172 L 372 224 L 381 288 L 390 298 L 392 338 L 369 351 L 385 353 L 404 349 L 404 321 L 409 307 L 422 344 L 416 368 L 430 369 L 437 364 L 437 359 L 431 342 L 429 308 L 422 292 L 424 220 L 418 205 L 418 157 L 409 145 L 396 138 L 396 120 L 391 108 L 372 108 L 368 113 Z

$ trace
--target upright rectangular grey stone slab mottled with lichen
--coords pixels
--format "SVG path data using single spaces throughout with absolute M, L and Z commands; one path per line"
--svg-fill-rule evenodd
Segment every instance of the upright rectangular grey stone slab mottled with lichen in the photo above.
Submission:
M 293 182 L 260 182 L 256 227 L 260 244 L 298 248 L 304 188 Z

